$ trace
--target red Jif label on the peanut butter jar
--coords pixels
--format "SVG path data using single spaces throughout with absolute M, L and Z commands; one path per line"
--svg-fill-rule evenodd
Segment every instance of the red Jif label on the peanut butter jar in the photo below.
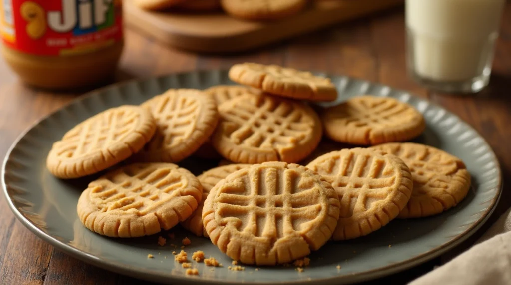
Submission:
M 22 53 L 90 53 L 123 38 L 122 0 L 0 0 L 4 44 Z

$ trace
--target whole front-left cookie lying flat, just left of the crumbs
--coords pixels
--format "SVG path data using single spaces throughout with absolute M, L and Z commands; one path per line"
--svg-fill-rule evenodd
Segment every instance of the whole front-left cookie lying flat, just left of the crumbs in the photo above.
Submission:
M 202 186 L 170 163 L 132 164 L 91 182 L 78 200 L 78 217 L 109 237 L 141 237 L 170 229 L 197 209 Z

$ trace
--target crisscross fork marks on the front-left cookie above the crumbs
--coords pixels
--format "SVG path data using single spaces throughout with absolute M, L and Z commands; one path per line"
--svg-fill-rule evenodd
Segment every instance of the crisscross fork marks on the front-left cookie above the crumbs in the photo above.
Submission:
M 93 191 L 92 197 L 103 200 L 103 212 L 136 209 L 144 215 L 155 202 L 181 195 L 177 190 L 184 187 L 184 179 L 168 169 L 145 169 L 135 175 L 116 173 L 112 180 L 102 179 L 104 190 Z

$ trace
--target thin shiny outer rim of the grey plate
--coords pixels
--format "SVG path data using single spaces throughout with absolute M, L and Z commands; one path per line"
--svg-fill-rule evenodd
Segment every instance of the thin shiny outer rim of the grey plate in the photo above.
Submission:
M 121 87 L 124 85 L 133 84 L 133 83 L 141 83 L 141 82 L 147 82 L 147 81 L 151 81 L 151 80 L 160 80 L 165 77 L 179 76 L 179 75 L 183 75 L 183 74 L 204 73 L 204 72 L 222 72 L 225 70 L 227 70 L 227 69 L 217 68 L 217 69 L 199 69 L 199 70 L 192 70 L 192 71 L 186 71 L 186 72 L 173 72 L 173 73 L 168 73 L 168 74 L 163 74 L 163 75 L 140 77 L 140 78 L 136 78 L 136 79 L 122 81 L 119 83 L 113 83 L 113 84 L 110 84 L 110 85 L 107 85 L 107 86 L 104 86 L 104 87 L 101 87 L 98 89 L 88 91 L 88 92 L 80 95 L 79 97 L 67 102 L 65 105 L 54 110 L 50 114 L 45 115 L 45 116 L 35 120 L 24 131 L 22 131 L 20 133 L 20 135 L 18 135 L 18 137 L 14 140 L 14 142 L 9 147 L 9 149 L 6 153 L 6 156 L 5 156 L 3 164 L 2 164 L 2 172 L 1 172 L 2 190 L 3 190 L 2 192 L 4 193 L 6 202 L 9 205 L 9 208 L 13 212 L 14 216 L 21 222 L 22 225 L 24 225 L 26 228 L 28 228 L 30 231 L 32 231 L 37 237 L 39 237 L 43 241 L 48 242 L 49 244 L 54 246 L 56 249 L 59 249 L 66 254 L 72 255 L 73 257 L 78 258 L 79 260 L 84 261 L 84 262 L 94 265 L 94 266 L 99 266 L 99 267 L 104 266 L 108 270 L 111 270 L 116 273 L 129 275 L 129 276 L 132 276 L 135 278 L 142 278 L 142 279 L 146 279 L 146 280 L 159 281 L 159 282 L 161 282 L 161 281 L 167 281 L 167 282 L 168 281 L 178 281 L 178 282 L 184 282 L 184 283 L 203 283 L 203 284 L 218 283 L 218 280 L 211 279 L 211 278 L 195 279 L 195 278 L 189 278 L 186 276 L 179 276 L 179 275 L 173 275 L 173 276 L 169 277 L 169 276 L 161 276 L 158 274 L 152 274 L 150 271 L 147 271 L 147 270 L 144 272 L 142 272 L 140 270 L 134 270 L 135 268 L 138 268 L 138 267 L 132 267 L 130 265 L 126 265 L 126 264 L 120 263 L 120 262 L 104 260 L 103 258 L 97 257 L 96 255 L 90 254 L 86 251 L 80 250 L 80 249 L 75 248 L 71 245 L 68 245 L 64 242 L 59 241 L 52 235 L 45 233 L 35 223 L 33 223 L 30 219 L 25 217 L 25 215 L 19 211 L 19 209 L 16 207 L 16 205 L 14 204 L 14 202 L 9 194 L 8 186 L 5 181 L 5 176 L 6 176 L 5 174 L 6 174 L 7 163 L 10 161 L 10 158 L 12 156 L 12 151 L 16 148 L 18 143 L 27 135 L 27 133 L 29 133 L 40 122 L 48 119 L 49 117 L 53 116 L 57 112 L 68 108 L 69 106 L 71 106 L 72 104 L 74 104 L 76 102 L 83 101 L 86 98 L 89 98 L 91 96 L 94 96 L 95 94 L 101 93 L 104 90 L 108 90 L 108 89 L 115 88 L 115 87 L 118 88 L 118 87 Z M 364 281 L 364 280 L 370 280 L 370 279 L 390 275 L 392 273 L 396 273 L 396 272 L 411 268 L 415 265 L 421 264 L 423 262 L 426 262 L 428 260 L 431 260 L 432 258 L 437 257 L 438 255 L 448 251 L 449 249 L 454 248 L 455 246 L 459 245 L 463 241 L 467 240 L 470 236 L 472 236 L 474 234 L 474 232 L 477 231 L 490 218 L 491 214 L 495 211 L 495 208 L 496 208 L 498 201 L 500 200 L 500 196 L 502 194 L 502 188 L 503 188 L 502 170 L 501 170 L 500 163 L 498 161 L 498 158 L 497 158 L 493 148 L 486 141 L 486 139 L 483 136 L 481 136 L 479 134 L 479 132 L 474 127 L 472 127 L 472 125 L 470 125 L 466 121 L 460 119 L 455 113 L 452 113 L 451 111 L 445 109 L 443 106 L 437 105 L 436 102 L 432 102 L 429 99 L 425 99 L 425 98 L 421 98 L 419 96 L 413 95 L 413 93 L 411 93 L 409 91 L 393 88 L 389 85 L 382 84 L 379 82 L 372 82 L 372 81 L 365 80 L 365 79 L 359 79 L 359 78 L 353 77 L 353 76 L 335 74 L 335 73 L 330 73 L 330 72 L 318 72 L 318 73 L 325 74 L 326 76 L 329 76 L 329 77 L 332 77 L 332 76 L 343 77 L 343 78 L 346 78 L 349 80 L 355 80 L 355 81 L 359 81 L 359 82 L 363 82 L 363 83 L 377 84 L 377 85 L 380 85 L 383 87 L 389 87 L 392 90 L 395 90 L 398 92 L 404 92 L 412 97 L 419 98 L 423 101 L 426 101 L 426 102 L 428 102 L 428 104 L 430 106 L 444 110 L 451 116 L 454 116 L 459 122 L 461 122 L 462 124 L 466 125 L 469 129 L 471 129 L 471 131 L 473 131 L 478 137 L 480 137 L 482 139 L 482 141 L 487 145 L 488 150 L 492 154 L 491 160 L 493 161 L 493 163 L 495 163 L 495 169 L 497 171 L 497 173 L 495 174 L 496 178 L 497 178 L 497 187 L 496 187 L 497 193 L 495 196 L 492 197 L 492 199 L 491 199 L 492 203 L 486 208 L 486 210 L 481 214 L 481 216 L 476 221 L 474 221 L 472 224 L 470 224 L 470 226 L 467 229 L 465 229 L 460 234 L 453 237 L 450 241 L 443 243 L 437 247 L 434 247 L 424 253 L 415 255 L 411 258 L 408 258 L 408 259 L 400 261 L 400 262 L 392 263 L 392 264 L 389 264 L 386 266 L 382 266 L 382 267 L 378 267 L 378 268 L 374 268 L 374 269 L 370 269 L 370 270 L 366 270 L 366 271 L 359 271 L 359 272 L 352 273 L 352 274 L 344 274 L 344 275 L 325 277 L 325 278 L 312 278 L 310 280 L 293 280 L 291 283 L 298 283 L 298 284 L 313 284 L 315 282 L 349 283 L 349 282 L 359 282 L 359 281 Z M 166 278 L 166 280 L 163 280 L 164 278 Z M 226 284 L 238 284 L 239 283 L 236 280 L 222 280 L 222 282 L 224 282 Z M 272 282 L 275 282 L 275 281 L 248 280 L 248 281 L 244 281 L 243 283 L 255 285 L 255 284 L 269 284 Z M 281 283 L 284 283 L 284 282 L 281 282 Z

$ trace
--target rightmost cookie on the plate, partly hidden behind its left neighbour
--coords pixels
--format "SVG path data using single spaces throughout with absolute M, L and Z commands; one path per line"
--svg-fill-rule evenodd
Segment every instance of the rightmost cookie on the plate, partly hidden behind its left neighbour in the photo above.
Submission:
M 463 162 L 451 154 L 416 143 L 388 143 L 373 148 L 396 155 L 412 173 L 412 196 L 399 218 L 439 214 L 467 196 L 470 173 Z

